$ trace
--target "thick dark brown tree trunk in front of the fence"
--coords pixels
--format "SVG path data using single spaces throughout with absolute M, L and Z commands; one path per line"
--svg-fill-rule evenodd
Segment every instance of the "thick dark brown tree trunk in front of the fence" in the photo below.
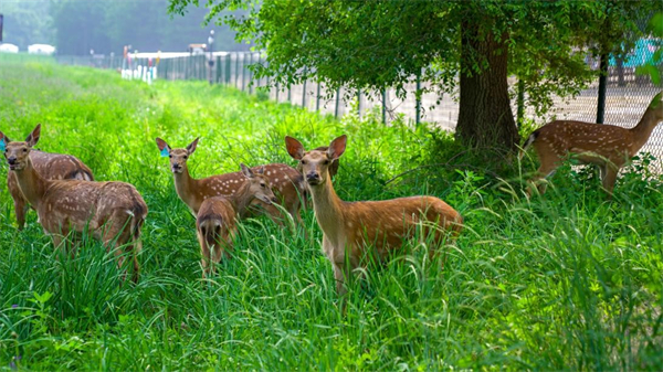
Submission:
M 467 147 L 515 150 L 518 130 L 508 98 L 508 46 L 495 40 L 490 25 L 463 22 L 461 38 L 461 107 L 456 138 Z M 487 63 L 476 71 L 476 64 Z

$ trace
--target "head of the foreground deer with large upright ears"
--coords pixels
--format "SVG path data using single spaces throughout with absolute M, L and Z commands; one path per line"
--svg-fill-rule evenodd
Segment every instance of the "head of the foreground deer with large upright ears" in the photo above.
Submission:
M 285 137 L 285 146 L 291 157 L 299 160 L 302 174 L 309 185 L 320 185 L 330 179 L 329 166 L 345 152 L 347 136 L 343 135 L 332 141 L 326 151 L 306 151 L 302 142 L 293 137 Z

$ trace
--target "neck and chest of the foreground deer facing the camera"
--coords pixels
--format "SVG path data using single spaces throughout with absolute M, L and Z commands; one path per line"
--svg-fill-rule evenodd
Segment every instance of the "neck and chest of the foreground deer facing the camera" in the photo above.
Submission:
M 332 180 L 328 178 L 323 184 L 308 185 L 315 217 L 320 228 L 329 238 L 335 240 L 343 231 L 344 213 L 343 201 L 336 194 Z

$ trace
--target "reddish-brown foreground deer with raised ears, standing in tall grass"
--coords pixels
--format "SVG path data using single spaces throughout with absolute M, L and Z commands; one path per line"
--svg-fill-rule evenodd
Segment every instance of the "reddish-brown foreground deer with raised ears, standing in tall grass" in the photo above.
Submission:
M 345 280 L 350 273 L 366 264 L 364 258 L 385 262 L 397 253 L 403 240 L 414 236 L 418 225 L 424 234 L 432 234 L 436 244 L 442 244 L 448 232 L 455 237 L 463 223 L 459 212 L 434 196 L 340 200 L 332 184 L 329 166 L 344 153 L 346 141 L 344 135 L 333 140 L 327 151 L 306 151 L 298 140 L 285 137 L 287 152 L 299 160 L 308 183 L 315 217 L 323 230 L 323 252 L 332 262 L 340 295 L 346 293 Z

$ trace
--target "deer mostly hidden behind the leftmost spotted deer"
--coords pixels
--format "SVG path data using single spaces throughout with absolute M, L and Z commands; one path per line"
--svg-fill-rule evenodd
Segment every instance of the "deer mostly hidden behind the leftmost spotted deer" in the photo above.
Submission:
M 8 142 L 11 140 L 8 138 Z M 71 155 L 52 153 L 39 150 L 30 151 L 32 166 L 36 171 L 50 180 L 84 180 L 94 181 L 92 170 L 80 159 Z M 12 172 L 7 173 L 7 189 L 14 202 L 14 212 L 19 230 L 25 226 L 25 214 L 30 204 L 19 189 L 19 181 Z

